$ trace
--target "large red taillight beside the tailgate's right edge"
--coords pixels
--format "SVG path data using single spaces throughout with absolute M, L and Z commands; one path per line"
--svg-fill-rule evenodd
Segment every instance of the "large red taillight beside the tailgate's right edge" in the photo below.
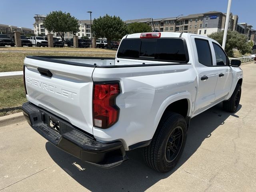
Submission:
M 102 129 L 109 128 L 118 120 L 119 108 L 116 96 L 120 94 L 119 83 L 94 84 L 93 88 L 93 125 Z

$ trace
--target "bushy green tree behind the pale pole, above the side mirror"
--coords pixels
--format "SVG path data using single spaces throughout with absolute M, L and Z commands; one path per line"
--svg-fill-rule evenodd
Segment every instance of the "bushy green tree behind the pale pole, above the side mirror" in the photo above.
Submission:
M 218 41 L 218 43 L 222 45 L 223 34 L 224 34 L 224 31 L 215 32 L 208 35 L 208 37 Z M 234 48 L 238 49 L 241 54 L 246 54 L 251 52 L 251 48 L 250 48 L 250 45 L 248 44 L 247 37 L 244 34 L 238 33 L 237 31 L 228 30 L 226 46 L 225 46 L 225 51 L 228 54 L 228 56 L 233 56 Z

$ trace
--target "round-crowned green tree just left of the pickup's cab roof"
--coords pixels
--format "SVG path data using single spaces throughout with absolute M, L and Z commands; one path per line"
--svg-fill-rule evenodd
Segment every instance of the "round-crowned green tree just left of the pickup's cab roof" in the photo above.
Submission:
M 96 38 L 107 38 L 108 48 L 111 48 L 110 42 L 127 34 L 127 27 L 120 17 L 106 14 L 93 20 L 92 31 Z

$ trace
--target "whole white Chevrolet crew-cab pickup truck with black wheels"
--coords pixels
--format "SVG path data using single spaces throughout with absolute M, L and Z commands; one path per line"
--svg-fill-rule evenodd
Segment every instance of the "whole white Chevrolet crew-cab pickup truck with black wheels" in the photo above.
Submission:
M 85 162 L 110 168 L 144 147 L 146 163 L 168 172 L 190 118 L 220 102 L 237 110 L 240 64 L 204 36 L 130 34 L 115 58 L 27 56 L 22 110 L 34 130 Z

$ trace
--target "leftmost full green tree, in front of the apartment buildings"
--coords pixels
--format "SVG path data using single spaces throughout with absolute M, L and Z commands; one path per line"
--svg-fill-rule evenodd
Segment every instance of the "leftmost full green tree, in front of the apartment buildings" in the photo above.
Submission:
M 72 17 L 70 13 L 62 11 L 50 12 L 44 20 L 44 27 L 48 31 L 58 32 L 62 41 L 64 41 L 66 32 L 76 33 L 79 31 L 78 20 Z

